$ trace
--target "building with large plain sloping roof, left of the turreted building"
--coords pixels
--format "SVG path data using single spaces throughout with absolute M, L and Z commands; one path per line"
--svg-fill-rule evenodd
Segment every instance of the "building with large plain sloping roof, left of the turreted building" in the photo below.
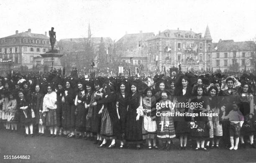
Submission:
M 134 65 L 143 64 L 147 69 L 148 45 L 147 40 L 154 37 L 154 33 L 132 33 L 125 35 L 115 43 L 115 55 L 121 61 Z

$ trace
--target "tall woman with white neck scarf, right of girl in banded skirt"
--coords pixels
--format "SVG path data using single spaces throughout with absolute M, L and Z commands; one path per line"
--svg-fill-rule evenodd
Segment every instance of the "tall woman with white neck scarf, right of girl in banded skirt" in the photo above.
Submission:
M 181 76 L 179 80 L 177 80 L 177 87 L 174 90 L 174 100 L 173 103 L 177 102 L 176 112 L 186 113 L 188 112 L 187 103 L 191 101 L 191 87 L 189 86 L 189 79 L 187 76 Z M 179 138 L 180 147 L 179 150 L 186 150 L 187 148 L 187 137 L 189 134 L 189 127 L 187 122 L 191 120 L 190 117 L 174 117 L 176 122 L 175 134 L 176 137 Z M 175 122 L 174 121 L 174 122 Z M 184 145 L 183 145 L 184 140 Z

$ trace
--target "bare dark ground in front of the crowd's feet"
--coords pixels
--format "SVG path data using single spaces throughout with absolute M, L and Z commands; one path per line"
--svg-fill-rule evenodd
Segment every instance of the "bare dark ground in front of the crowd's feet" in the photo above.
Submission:
M 0 163 L 205 163 L 256 162 L 256 149 L 229 151 L 224 148 L 205 151 L 178 150 L 178 141 L 170 151 L 97 148 L 93 141 L 63 137 L 24 137 L 21 132 L 0 130 Z M 190 146 L 190 145 L 189 145 Z M 30 160 L 6 160 L 4 155 L 30 155 Z

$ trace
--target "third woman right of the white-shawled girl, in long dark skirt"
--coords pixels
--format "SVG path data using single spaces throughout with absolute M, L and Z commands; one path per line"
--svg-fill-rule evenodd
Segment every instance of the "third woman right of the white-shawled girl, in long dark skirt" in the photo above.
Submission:
M 84 103 L 86 100 L 84 84 L 82 82 L 77 83 L 78 92 L 75 98 L 74 104 L 76 105 L 75 115 L 76 115 L 76 131 L 79 132 L 79 135 L 76 135 L 76 138 L 82 138 L 86 130 L 86 110 Z

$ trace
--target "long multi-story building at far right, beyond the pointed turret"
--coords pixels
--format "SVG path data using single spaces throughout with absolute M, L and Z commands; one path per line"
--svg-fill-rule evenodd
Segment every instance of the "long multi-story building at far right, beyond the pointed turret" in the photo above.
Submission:
M 254 70 L 256 44 L 253 41 L 221 40 L 212 43 L 212 70 Z

